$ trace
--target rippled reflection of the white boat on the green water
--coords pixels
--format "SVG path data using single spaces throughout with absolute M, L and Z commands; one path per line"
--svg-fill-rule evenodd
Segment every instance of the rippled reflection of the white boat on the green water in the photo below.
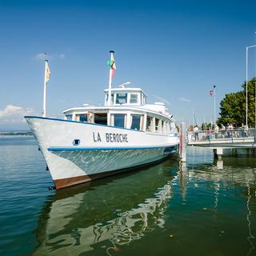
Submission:
M 34 255 L 118 251 L 165 224 L 178 161 L 58 190 L 39 218 Z M 102 253 L 102 251 L 101 251 Z

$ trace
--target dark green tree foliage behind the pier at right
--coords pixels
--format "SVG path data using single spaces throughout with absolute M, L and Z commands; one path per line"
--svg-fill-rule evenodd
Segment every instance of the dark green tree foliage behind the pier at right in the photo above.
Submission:
M 255 85 L 256 78 L 248 82 L 248 126 L 255 125 Z M 226 94 L 221 101 L 218 124 L 233 123 L 235 126 L 246 124 L 246 82 L 237 93 Z

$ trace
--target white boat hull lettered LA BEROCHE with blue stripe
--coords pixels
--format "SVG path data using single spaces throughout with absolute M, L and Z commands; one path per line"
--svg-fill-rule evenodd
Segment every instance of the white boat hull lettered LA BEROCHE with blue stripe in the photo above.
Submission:
M 161 161 L 178 151 L 174 134 L 26 117 L 57 189 Z

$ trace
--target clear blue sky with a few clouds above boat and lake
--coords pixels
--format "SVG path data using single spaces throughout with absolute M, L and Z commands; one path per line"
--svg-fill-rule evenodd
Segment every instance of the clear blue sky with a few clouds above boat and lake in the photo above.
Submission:
M 0 130 L 28 129 L 23 116 L 41 115 L 44 53 L 48 116 L 103 104 L 110 50 L 114 87 L 141 87 L 149 103 L 166 102 L 177 122 L 210 122 L 213 86 L 217 114 L 226 94 L 242 90 L 255 10 L 250 0 L 0 0 Z M 249 78 L 255 63 L 256 47 Z

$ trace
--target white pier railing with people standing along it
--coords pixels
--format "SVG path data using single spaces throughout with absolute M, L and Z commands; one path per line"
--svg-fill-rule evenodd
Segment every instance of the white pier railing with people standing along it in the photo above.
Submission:
M 254 139 L 255 131 L 254 128 L 250 129 L 230 129 L 230 130 L 199 130 L 198 135 L 192 131 L 187 132 L 187 142 L 216 142 L 216 141 L 226 141 L 233 142 L 238 139 Z

